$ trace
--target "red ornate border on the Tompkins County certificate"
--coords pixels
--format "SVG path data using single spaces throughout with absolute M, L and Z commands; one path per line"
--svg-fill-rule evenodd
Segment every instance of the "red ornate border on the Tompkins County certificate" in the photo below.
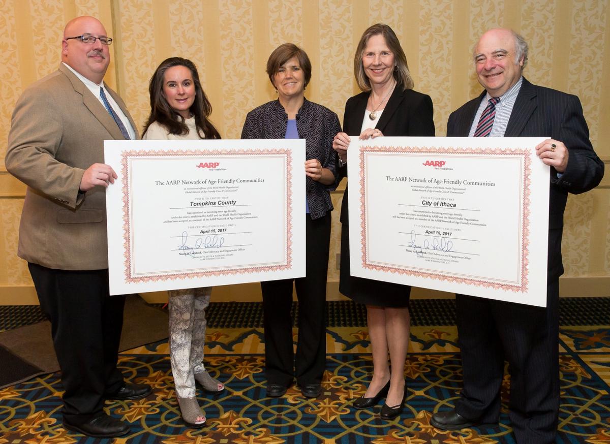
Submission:
M 223 270 L 196 271 L 187 273 L 152 274 L 151 276 L 134 276 L 132 258 L 131 236 L 131 188 L 129 163 L 134 159 L 150 159 L 154 157 L 235 157 L 235 156 L 285 156 L 285 203 L 286 215 L 285 231 L 285 257 L 286 262 L 281 265 L 251 265 L 249 267 L 227 268 Z M 193 277 L 223 276 L 231 274 L 248 274 L 265 271 L 288 270 L 292 267 L 292 151 L 288 149 L 185 149 L 185 150 L 139 150 L 121 152 L 121 173 L 123 174 L 123 251 L 124 251 L 124 278 L 127 284 L 138 282 L 157 282 Z

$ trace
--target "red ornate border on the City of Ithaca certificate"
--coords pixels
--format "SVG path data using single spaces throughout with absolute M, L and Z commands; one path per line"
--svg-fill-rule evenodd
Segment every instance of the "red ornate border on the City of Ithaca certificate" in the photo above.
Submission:
M 413 270 L 409 268 L 392 267 L 378 265 L 368 262 L 367 254 L 367 220 L 366 220 L 366 180 L 365 180 L 365 155 L 366 154 L 394 154 L 394 153 L 415 153 L 415 154 L 432 154 L 439 156 L 442 154 L 474 154 L 481 156 L 514 156 L 522 159 L 522 189 L 520 195 L 522 197 L 522 215 L 523 223 L 521 227 L 521 239 L 520 239 L 520 282 L 517 284 L 506 284 L 500 282 L 494 282 L 491 280 L 480 279 L 476 276 L 471 277 L 459 277 L 451 276 L 448 274 L 440 273 L 429 273 L 420 270 Z M 459 284 L 476 285 L 478 287 L 487 288 L 498 288 L 502 290 L 508 290 L 511 292 L 528 292 L 528 257 L 529 257 L 529 215 L 530 215 L 530 175 L 531 175 L 531 151 L 528 149 L 506 149 L 506 148 L 454 148 L 454 147 L 426 147 L 420 148 L 418 146 L 365 146 L 361 148 L 359 152 L 360 162 L 360 178 L 359 178 L 359 192 L 360 192 L 360 206 L 361 206 L 361 239 L 362 239 L 362 268 L 368 270 L 383 271 L 386 273 L 402 274 L 407 276 L 417 276 L 426 279 L 436 279 L 439 281 L 457 282 Z

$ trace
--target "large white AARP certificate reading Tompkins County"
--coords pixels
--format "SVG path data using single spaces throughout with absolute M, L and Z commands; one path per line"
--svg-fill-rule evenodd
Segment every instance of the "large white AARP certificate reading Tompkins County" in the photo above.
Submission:
M 106 141 L 110 294 L 305 276 L 304 140 Z

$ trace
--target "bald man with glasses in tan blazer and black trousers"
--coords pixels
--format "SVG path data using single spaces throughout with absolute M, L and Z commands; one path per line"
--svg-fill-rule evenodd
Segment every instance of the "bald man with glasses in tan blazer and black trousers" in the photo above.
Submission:
M 104 399 L 148 396 L 117 368 L 124 296 L 109 296 L 106 193 L 117 174 L 104 140 L 137 138 L 125 104 L 103 82 L 104 26 L 66 24 L 59 70 L 31 85 L 13 112 L 6 168 L 27 185 L 18 255 L 27 260 L 62 371 L 63 425 L 93 437 L 129 433 Z M 110 185 L 112 186 L 112 185 Z

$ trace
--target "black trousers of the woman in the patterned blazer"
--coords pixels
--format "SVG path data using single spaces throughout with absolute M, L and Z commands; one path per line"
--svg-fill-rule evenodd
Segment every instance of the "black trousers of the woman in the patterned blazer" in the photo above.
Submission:
M 265 324 L 265 374 L 268 384 L 320 384 L 326 368 L 326 276 L 331 213 L 312 220 L 305 215 L 305 277 L 260 282 Z M 293 353 L 292 282 L 299 301 L 296 360 Z M 294 368 L 294 371 L 293 371 Z

